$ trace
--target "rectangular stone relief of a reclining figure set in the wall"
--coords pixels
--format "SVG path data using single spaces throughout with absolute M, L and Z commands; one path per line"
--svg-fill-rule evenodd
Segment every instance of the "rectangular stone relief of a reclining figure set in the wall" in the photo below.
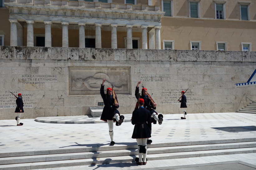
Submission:
M 69 94 L 99 94 L 102 80 L 105 89 L 114 83 L 116 94 L 130 94 L 129 67 L 69 67 Z

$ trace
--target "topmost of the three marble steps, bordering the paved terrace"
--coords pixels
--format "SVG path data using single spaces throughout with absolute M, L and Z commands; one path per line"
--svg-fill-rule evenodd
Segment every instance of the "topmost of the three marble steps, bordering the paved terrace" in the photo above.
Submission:
M 241 142 L 254 142 L 256 138 L 241 138 L 241 139 L 223 139 L 223 140 L 204 140 L 204 141 L 185 141 L 185 142 L 171 142 L 171 143 L 152 143 L 148 145 L 150 148 L 159 148 L 159 147 L 173 147 L 173 146 L 182 146 L 182 147 L 191 147 L 194 145 L 208 145 L 208 144 L 234 144 Z M 154 141 L 153 141 L 154 142 Z M 72 147 L 72 148 L 62 148 L 62 149 L 51 149 L 51 150 L 22 150 L 16 152 L 5 152 L 0 151 L 0 158 L 5 157 L 16 157 L 16 156 L 33 156 L 33 155 L 48 155 L 48 154 L 65 154 L 65 153 L 80 153 L 80 152 L 99 152 L 107 150 L 123 150 L 123 149 L 137 149 L 137 145 L 104 145 L 98 146 L 97 144 L 92 145 L 91 147 Z

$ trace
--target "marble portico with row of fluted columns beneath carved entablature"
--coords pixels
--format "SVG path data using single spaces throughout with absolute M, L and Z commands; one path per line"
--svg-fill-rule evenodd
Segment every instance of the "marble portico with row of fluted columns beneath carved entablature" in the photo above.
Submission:
M 67 0 L 11 0 L 5 2 L 5 7 L 9 10 L 11 22 L 11 46 L 31 47 L 41 44 L 52 47 L 53 41 L 56 41 L 55 46 L 61 44 L 61 47 L 124 48 L 124 45 L 125 48 L 133 48 L 135 44 L 142 49 L 148 46 L 152 49 L 161 48 L 160 28 L 164 12 L 160 11 L 160 6 Z M 44 34 L 42 30 L 45 30 Z M 58 37 L 58 32 L 62 32 L 62 37 Z M 139 32 L 139 36 L 133 37 L 133 32 Z M 118 47 L 120 36 L 123 45 Z M 41 37 L 45 43 L 39 42 L 43 40 Z M 70 37 L 75 39 L 69 40 Z M 103 46 L 103 43 L 108 46 Z

